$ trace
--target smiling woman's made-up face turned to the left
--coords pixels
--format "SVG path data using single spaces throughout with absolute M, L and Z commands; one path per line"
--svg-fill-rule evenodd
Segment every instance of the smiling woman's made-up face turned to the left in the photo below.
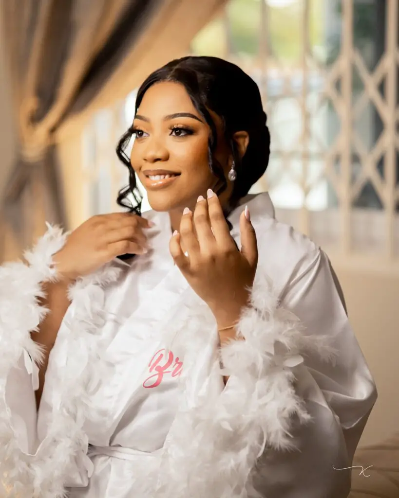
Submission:
M 227 178 L 231 152 L 223 136 L 220 118 L 211 113 L 217 128 L 215 158 Z M 160 82 L 145 93 L 134 120 L 135 141 L 131 164 L 147 190 L 148 201 L 155 211 L 194 209 L 199 195 L 214 189 L 217 178 L 208 166 L 210 127 L 194 107 L 183 85 Z M 149 175 L 174 174 L 171 178 Z M 232 184 L 220 195 L 223 203 L 231 194 Z

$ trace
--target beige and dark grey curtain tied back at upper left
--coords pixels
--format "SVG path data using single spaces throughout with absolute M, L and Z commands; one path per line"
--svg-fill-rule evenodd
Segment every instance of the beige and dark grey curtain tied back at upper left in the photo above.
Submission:
M 63 133 L 186 54 L 225 1 L 0 2 L 18 135 L 0 206 L 0 260 L 10 258 L 5 244 L 19 257 L 45 221 L 68 228 L 57 165 Z

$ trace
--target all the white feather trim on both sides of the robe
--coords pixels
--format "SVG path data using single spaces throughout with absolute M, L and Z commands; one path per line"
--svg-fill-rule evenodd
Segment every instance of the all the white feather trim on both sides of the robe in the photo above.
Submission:
M 0 483 L 2 479 L 8 491 L 2 496 L 64 497 L 67 477 L 76 473 L 76 467 L 90 467 L 83 423 L 87 417 L 102 415 L 91 409 L 90 398 L 108 369 L 107 344 L 99 332 L 105 320 L 103 287 L 120 271 L 112 263 L 69 289 L 76 309 L 68 339 L 73 355 L 66 352 L 66 358 L 72 362 L 72 356 L 86 355 L 86 367 L 75 375 L 69 368 L 68 376 L 59 369 L 59 400 L 46 439 L 34 455 L 26 455 L 14 437 L 4 397 L 7 375 L 23 350 L 34 362 L 41 358 L 30 337 L 47 312 L 37 304 L 40 282 L 56 279 L 51 255 L 66 239 L 57 227 L 48 228 L 36 248 L 25 254 L 29 267 L 13 263 L 0 268 Z M 177 330 L 182 331 L 179 342 L 185 345 L 185 364 L 194 366 L 203 341 L 209 340 L 201 332 L 212 329 L 214 321 L 194 292 L 185 306 L 190 310 L 189 323 L 171 319 L 165 335 L 172 339 Z M 190 369 L 184 372 L 184 395 L 164 451 L 152 471 L 137 482 L 137 496 L 261 497 L 252 485 L 258 457 L 268 447 L 295 447 L 289 432 L 292 418 L 302 423 L 311 418 L 295 393 L 295 367 L 303 362 L 301 355 L 313 351 L 329 360 L 335 353 L 327 336 L 307 337 L 303 332 L 296 317 L 279 306 L 276 292 L 258 267 L 251 305 L 237 326 L 244 340 L 221 348 L 224 369 L 215 358 L 206 388 L 193 383 Z M 221 390 L 222 374 L 229 380 Z

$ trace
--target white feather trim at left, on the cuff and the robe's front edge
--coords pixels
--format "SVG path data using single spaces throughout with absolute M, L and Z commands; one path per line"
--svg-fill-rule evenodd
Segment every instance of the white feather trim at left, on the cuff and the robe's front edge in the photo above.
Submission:
M 77 468 L 84 469 L 82 479 L 88 480 L 92 464 L 86 456 L 88 439 L 83 424 L 94 415 L 90 397 L 108 372 L 103 354 L 106 344 L 97 337 L 105 323 L 101 284 L 114 281 L 120 272 L 108 264 L 69 288 L 75 303 L 68 334 L 71 354 L 67 352 L 66 365 L 57 372 L 58 399 L 52 400 L 54 412 L 46 437 L 35 454 L 24 453 L 13 432 L 5 385 L 23 350 L 33 362 L 42 356 L 30 337 L 48 312 L 37 303 L 44 296 L 40 283 L 57 279 L 51 256 L 62 248 L 68 235 L 57 227 L 47 227 L 36 247 L 24 254 L 29 266 L 19 262 L 0 268 L 0 484 L 6 496 L 19 498 L 65 497 L 65 481 Z

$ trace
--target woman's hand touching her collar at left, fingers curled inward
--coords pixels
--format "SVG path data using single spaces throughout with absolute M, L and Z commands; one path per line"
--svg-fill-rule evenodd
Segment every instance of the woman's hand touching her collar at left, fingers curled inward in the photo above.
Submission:
M 73 282 L 121 254 L 146 252 L 143 229 L 152 222 L 134 213 L 111 213 L 89 218 L 74 230 L 53 255 L 61 280 Z

